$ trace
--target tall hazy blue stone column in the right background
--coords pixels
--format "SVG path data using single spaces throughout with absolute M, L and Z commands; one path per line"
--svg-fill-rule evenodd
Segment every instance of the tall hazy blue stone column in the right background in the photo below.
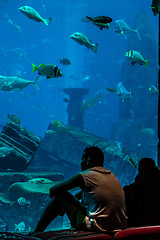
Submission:
M 128 36 L 128 51 L 138 51 L 145 60 L 149 60 L 148 67 L 136 63 L 134 66 L 130 61 L 123 63 L 121 81 L 124 86 L 131 90 L 132 99 L 125 103 L 120 103 L 120 118 L 133 118 L 139 120 L 143 127 L 155 127 L 155 116 L 157 115 L 157 96 L 149 93 L 152 85 L 157 87 L 157 40 L 154 25 L 150 15 L 145 10 L 141 10 L 134 21 L 133 29 L 137 29 L 141 39 L 137 34 Z

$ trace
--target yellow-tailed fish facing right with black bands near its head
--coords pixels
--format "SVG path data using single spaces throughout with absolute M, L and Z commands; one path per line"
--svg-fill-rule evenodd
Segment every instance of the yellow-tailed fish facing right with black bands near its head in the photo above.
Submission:
M 38 67 L 32 63 L 33 70 L 32 72 L 38 71 L 39 75 L 46 76 L 49 78 L 58 78 L 62 76 L 62 72 L 57 65 L 44 63 L 40 64 Z

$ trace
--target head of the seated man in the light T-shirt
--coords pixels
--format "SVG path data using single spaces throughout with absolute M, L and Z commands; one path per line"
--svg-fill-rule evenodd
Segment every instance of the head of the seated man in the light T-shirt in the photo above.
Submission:
M 81 170 L 84 171 L 91 167 L 103 166 L 104 154 L 96 146 L 85 148 L 82 155 Z

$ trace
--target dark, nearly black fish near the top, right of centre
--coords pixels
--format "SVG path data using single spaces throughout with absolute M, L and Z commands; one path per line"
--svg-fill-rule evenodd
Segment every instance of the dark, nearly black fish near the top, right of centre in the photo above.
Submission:
M 110 28 L 110 23 L 112 22 L 112 18 L 106 17 L 106 16 L 97 16 L 97 17 L 88 17 L 93 25 L 97 26 L 100 30 L 103 30 L 103 28 Z

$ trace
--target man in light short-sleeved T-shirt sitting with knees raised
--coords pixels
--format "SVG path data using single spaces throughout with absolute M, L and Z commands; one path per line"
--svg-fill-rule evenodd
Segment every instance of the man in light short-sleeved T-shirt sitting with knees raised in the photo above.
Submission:
M 116 232 L 126 227 L 125 196 L 118 179 L 103 168 L 104 154 L 96 146 L 83 151 L 82 172 L 50 189 L 50 202 L 32 232 L 43 232 L 66 213 L 76 230 Z M 69 190 L 81 189 L 75 196 Z M 82 199 L 82 201 L 80 201 Z

